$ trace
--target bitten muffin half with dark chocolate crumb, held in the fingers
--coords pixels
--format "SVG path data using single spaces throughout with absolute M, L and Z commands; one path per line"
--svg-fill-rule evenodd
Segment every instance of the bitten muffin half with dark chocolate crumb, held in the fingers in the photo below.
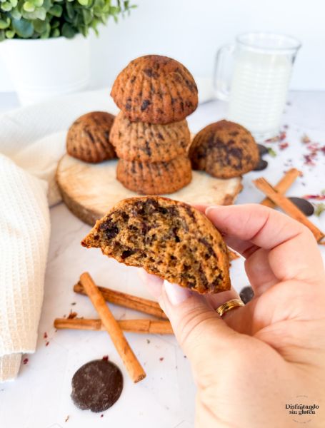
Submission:
M 227 248 L 195 208 L 161 197 L 121 200 L 81 245 L 199 293 L 230 289 Z

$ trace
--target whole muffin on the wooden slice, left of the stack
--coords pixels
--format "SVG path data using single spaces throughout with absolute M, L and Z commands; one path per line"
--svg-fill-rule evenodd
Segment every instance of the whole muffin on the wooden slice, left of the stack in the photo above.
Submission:
M 114 118 L 104 111 L 91 111 L 76 119 L 66 136 L 69 155 L 90 163 L 116 158 L 109 139 Z

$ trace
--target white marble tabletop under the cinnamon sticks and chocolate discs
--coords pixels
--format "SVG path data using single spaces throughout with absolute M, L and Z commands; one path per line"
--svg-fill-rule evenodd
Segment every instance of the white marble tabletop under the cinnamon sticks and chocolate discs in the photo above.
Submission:
M 244 191 L 237 203 L 259 202 L 263 197 L 251 180 L 263 175 L 276 183 L 289 164 L 304 171 L 289 195 L 320 193 L 325 188 L 325 156 L 319 153 L 317 165 L 304 165 L 306 147 L 300 138 L 307 133 L 313 141 L 325 145 L 325 93 L 291 93 L 284 123 L 289 148 L 280 151 L 270 143 L 278 156 L 271 158 L 269 168 L 244 176 Z M 224 103 L 201 105 L 189 118 L 191 131 L 218 120 L 225 114 Z M 291 159 L 291 161 L 289 161 Z M 325 213 L 313 216 L 314 223 L 325 230 Z M 141 287 L 134 268 L 104 258 L 99 250 L 86 250 L 80 245 L 89 226 L 74 217 L 63 203 L 51 208 L 51 243 L 46 270 L 44 307 L 39 325 L 39 341 L 34 355 L 21 367 L 15 382 L 0 385 L 0 426 L 5 428 L 83 428 L 141 427 L 190 428 L 194 423 L 195 387 L 189 361 L 172 336 L 127 334 L 147 373 L 146 379 L 132 384 L 106 332 L 58 331 L 52 327 L 55 317 L 68 315 L 96 317 L 88 299 L 76 295 L 72 287 L 84 270 L 91 272 L 100 285 L 149 297 Z M 320 247 L 321 248 L 321 247 Z M 324 255 L 325 247 L 321 248 Z M 247 285 L 242 260 L 231 267 L 231 278 L 237 290 Z M 75 305 L 72 305 L 75 303 Z M 137 312 L 111 305 L 119 319 L 144 317 Z M 48 335 L 44 339 L 44 333 Z M 46 342 L 49 344 L 46 346 Z M 71 377 L 85 362 L 103 355 L 116 362 L 124 374 L 124 390 L 111 409 L 101 414 L 81 411 L 71 403 Z M 161 360 L 163 358 L 163 360 Z M 69 419 L 67 417 L 69 416 Z

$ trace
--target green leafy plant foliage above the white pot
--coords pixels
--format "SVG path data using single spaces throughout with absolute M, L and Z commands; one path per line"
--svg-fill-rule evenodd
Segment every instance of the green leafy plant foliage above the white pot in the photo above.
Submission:
M 114 3 L 114 4 L 112 4 Z M 130 1 L 111 0 L 0 0 L 0 41 L 4 39 L 68 39 L 97 26 L 109 16 L 133 9 Z

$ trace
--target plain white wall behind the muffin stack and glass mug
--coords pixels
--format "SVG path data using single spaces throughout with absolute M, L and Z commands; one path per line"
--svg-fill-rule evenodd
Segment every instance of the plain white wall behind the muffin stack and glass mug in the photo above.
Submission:
M 324 0 L 134 0 L 138 9 L 91 37 L 91 87 L 110 86 L 131 58 L 165 54 L 194 76 L 211 76 L 219 46 L 244 31 L 276 31 L 299 38 L 294 89 L 325 90 Z M 21 71 L 24 72 L 23 70 Z M 0 91 L 12 91 L 0 59 Z

